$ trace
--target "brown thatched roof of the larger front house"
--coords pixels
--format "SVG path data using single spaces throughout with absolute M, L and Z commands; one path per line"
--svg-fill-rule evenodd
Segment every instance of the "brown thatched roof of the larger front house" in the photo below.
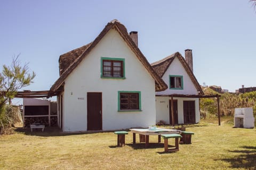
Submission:
M 145 66 L 146 70 L 149 72 L 151 77 L 154 78 L 156 84 L 156 91 L 163 91 L 167 89 L 167 85 L 165 84 L 165 82 L 158 76 L 158 74 L 154 71 L 153 67 L 151 67 L 151 65 L 148 63 L 146 57 L 135 45 L 124 25 L 117 20 L 113 20 L 106 25 L 106 27 L 100 32 L 99 36 L 94 41 L 92 41 L 92 43 L 61 55 L 62 57 L 60 57 L 60 62 L 65 62 L 66 60 L 68 64 L 60 63 L 60 77 L 57 81 L 55 81 L 50 91 L 54 92 L 60 88 L 60 86 L 65 82 L 65 79 L 68 77 L 68 75 L 77 67 L 79 63 L 81 63 L 83 58 L 91 52 L 91 50 L 99 43 L 99 41 L 106 35 L 106 33 L 110 29 L 115 29 L 119 33 L 119 35 L 124 39 L 125 43 L 138 57 L 142 65 Z M 80 53 L 81 55 L 79 55 Z M 69 56 L 71 56 L 71 59 L 69 58 Z

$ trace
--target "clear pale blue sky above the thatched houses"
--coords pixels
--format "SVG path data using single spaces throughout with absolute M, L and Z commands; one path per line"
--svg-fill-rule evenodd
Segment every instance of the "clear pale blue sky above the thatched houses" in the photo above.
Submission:
M 193 50 L 199 84 L 256 86 L 256 9 L 249 0 L 0 0 L 0 66 L 19 55 L 36 73 L 23 89 L 49 90 L 59 56 L 93 41 L 113 19 L 138 31 L 149 63 Z

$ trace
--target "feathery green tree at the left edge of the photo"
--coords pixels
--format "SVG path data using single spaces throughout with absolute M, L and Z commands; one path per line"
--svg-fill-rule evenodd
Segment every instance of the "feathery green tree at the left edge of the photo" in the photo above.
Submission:
M 3 65 L 3 71 L 0 73 L 0 134 L 15 123 L 15 114 L 13 114 L 11 99 L 15 97 L 17 91 L 33 83 L 36 74 L 28 72 L 28 63 L 21 66 L 17 57 L 12 58 L 10 66 Z M 9 105 L 6 105 L 9 101 Z

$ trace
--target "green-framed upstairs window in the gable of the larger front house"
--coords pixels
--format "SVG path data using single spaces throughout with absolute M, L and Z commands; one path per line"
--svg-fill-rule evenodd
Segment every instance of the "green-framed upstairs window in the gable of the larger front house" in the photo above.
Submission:
M 124 58 L 101 57 L 101 78 L 125 78 Z

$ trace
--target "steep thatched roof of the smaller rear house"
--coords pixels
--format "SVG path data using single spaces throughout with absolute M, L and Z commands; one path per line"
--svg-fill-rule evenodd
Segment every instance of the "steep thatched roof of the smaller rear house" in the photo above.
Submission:
M 183 65 L 183 67 L 186 70 L 186 72 L 188 73 L 191 81 L 194 83 L 197 91 L 200 91 L 199 94 L 204 95 L 204 92 L 203 92 L 200 84 L 196 80 L 196 77 L 195 77 L 194 73 L 191 71 L 187 62 L 185 61 L 185 59 L 182 57 L 182 55 L 179 52 L 174 53 L 170 56 L 167 56 L 167 57 L 165 57 L 162 60 L 159 60 L 157 62 L 151 63 L 151 66 L 153 66 L 153 69 L 159 75 L 159 77 L 162 78 L 164 73 L 167 71 L 167 69 L 169 68 L 169 66 L 171 65 L 171 63 L 173 62 L 175 57 L 177 57 L 179 59 L 179 61 L 181 62 L 181 64 Z

